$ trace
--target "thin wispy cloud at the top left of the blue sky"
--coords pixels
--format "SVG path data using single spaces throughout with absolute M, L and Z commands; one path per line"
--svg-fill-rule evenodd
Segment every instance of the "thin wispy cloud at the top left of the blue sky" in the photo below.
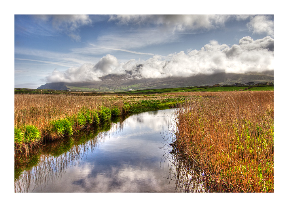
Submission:
M 80 41 L 79 27 L 92 23 L 89 15 L 35 15 L 43 22 L 49 22 L 57 31 L 66 33 L 73 40 Z

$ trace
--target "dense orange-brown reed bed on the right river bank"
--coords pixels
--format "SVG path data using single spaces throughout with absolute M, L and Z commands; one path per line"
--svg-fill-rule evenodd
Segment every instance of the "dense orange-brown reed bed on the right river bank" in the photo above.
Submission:
M 173 147 L 200 169 L 194 175 L 213 192 L 273 192 L 274 93 L 188 94 Z

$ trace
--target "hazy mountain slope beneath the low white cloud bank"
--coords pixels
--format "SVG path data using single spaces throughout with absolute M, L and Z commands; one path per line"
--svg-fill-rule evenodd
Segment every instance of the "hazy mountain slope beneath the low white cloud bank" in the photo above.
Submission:
M 125 91 L 136 89 L 175 88 L 203 85 L 231 85 L 248 82 L 273 82 L 274 77 L 259 74 L 217 73 L 212 75 L 196 75 L 193 77 L 170 77 L 162 79 L 129 79 L 125 75 L 109 74 L 100 77 L 101 81 L 87 83 L 46 83 L 38 89 L 85 90 L 85 91 Z

